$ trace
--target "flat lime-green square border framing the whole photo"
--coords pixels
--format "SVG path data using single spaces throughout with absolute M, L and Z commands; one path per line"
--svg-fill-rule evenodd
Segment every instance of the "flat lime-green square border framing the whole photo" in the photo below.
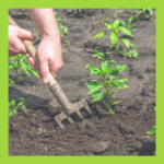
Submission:
M 157 3 L 159 2 L 159 3 Z M 2 5 L 1 5 L 2 7 Z M 21 0 L 8 0 L 5 4 L 0 10 L 0 19 L 1 19 L 1 80 L 0 80 L 0 91 L 1 91 L 1 118 L 0 118 L 0 156 L 1 161 L 5 163 L 84 163 L 84 162 L 93 162 L 93 163 L 102 163 L 102 162 L 119 162 L 119 163 L 155 163 L 157 161 L 162 161 L 163 156 L 163 140 L 162 140 L 162 130 L 157 130 L 156 136 L 156 156 L 8 156 L 8 9 L 17 9 L 17 8 L 153 8 L 156 9 L 156 104 L 157 104 L 157 114 L 156 115 L 156 126 L 157 129 L 162 129 L 162 120 L 163 120 L 163 109 L 162 109 L 162 101 L 163 101 L 163 68 L 164 65 L 164 55 L 162 54 L 163 48 L 163 9 L 162 2 L 160 0 L 150 1 L 150 0 L 62 0 L 62 1 L 21 1 Z M 161 42 L 160 42 L 161 40 Z M 161 80 L 160 80 L 161 78 Z M 161 95 L 161 96 L 160 96 Z M 161 109 L 160 109 L 161 108 Z M 4 117 L 5 116 L 5 117 Z M 161 119 L 160 119 L 161 117 Z M 145 133 L 147 134 L 147 133 Z M 81 160 L 81 161 L 80 161 Z

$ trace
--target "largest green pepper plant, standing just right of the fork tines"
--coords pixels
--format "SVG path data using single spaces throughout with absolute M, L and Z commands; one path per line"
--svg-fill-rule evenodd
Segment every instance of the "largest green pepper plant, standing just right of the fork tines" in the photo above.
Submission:
M 114 62 L 115 66 L 110 67 L 112 62 Z M 98 81 L 92 80 L 90 83 L 86 83 L 86 86 L 90 89 L 87 94 L 93 94 L 92 103 L 102 101 L 103 97 L 106 97 L 106 108 L 108 109 L 108 113 L 115 114 L 115 112 L 112 110 L 112 105 L 117 104 L 120 101 L 112 104 L 110 99 L 112 96 L 115 95 L 116 91 L 128 87 L 128 85 L 124 84 L 124 82 L 128 79 L 116 79 L 118 73 L 122 72 L 127 66 L 120 66 L 115 60 L 110 60 L 103 61 L 101 63 L 101 68 L 92 65 L 87 65 L 85 68 L 86 70 L 90 70 L 90 74 L 96 74 L 98 77 Z M 117 87 L 116 91 L 114 87 Z M 99 91 L 99 89 L 105 89 L 105 91 Z

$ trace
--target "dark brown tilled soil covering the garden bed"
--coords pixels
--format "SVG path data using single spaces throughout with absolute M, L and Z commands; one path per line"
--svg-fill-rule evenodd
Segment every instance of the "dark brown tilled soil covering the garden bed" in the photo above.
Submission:
M 115 115 L 107 113 L 105 99 L 91 103 L 92 95 L 86 94 L 89 89 L 85 82 L 96 78 L 90 74 L 85 66 L 94 65 L 94 47 L 102 47 L 99 51 L 104 54 L 110 49 L 108 36 L 94 38 L 98 32 L 112 32 L 102 26 L 103 17 L 108 19 L 106 23 L 109 23 L 117 19 L 128 21 L 132 14 L 125 12 L 114 19 L 117 11 L 128 9 L 83 9 L 78 14 L 74 14 L 77 9 L 54 10 L 61 19 L 59 23 L 69 30 L 69 34 L 61 37 L 65 66 L 56 80 L 71 103 L 85 98 L 93 116 L 90 117 L 83 108 L 81 113 L 85 119 L 82 121 L 74 114 L 71 116 L 74 124 L 63 120 L 65 129 L 61 130 L 54 117 L 62 107 L 49 85 L 34 75 L 24 75 L 23 81 L 19 82 L 13 72 L 9 80 L 14 80 L 15 84 L 14 87 L 9 86 L 9 101 L 19 103 L 19 97 L 31 101 L 9 118 L 9 155 L 155 155 L 155 134 L 147 133 L 155 126 L 155 10 L 149 21 L 137 15 L 137 31 L 132 32 L 133 37 L 129 40 L 137 45 L 138 59 L 105 55 L 105 59 L 98 60 L 98 65 L 116 60 L 128 66 L 119 77 L 128 79 L 126 84 L 129 87 L 117 91 L 112 98 L 112 102 L 121 101 L 112 106 Z M 22 28 L 38 38 L 39 32 L 35 32 L 37 25 L 28 13 L 22 16 L 21 9 L 10 9 L 9 13 Z M 34 43 L 36 48 L 39 42 Z M 38 133 L 39 128 L 45 132 Z

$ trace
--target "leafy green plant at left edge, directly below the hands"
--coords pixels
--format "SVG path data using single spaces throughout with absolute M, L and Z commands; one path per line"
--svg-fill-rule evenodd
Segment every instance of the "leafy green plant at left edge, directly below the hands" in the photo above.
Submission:
M 22 81 L 23 74 L 30 75 L 30 73 L 33 73 L 35 77 L 39 78 L 37 71 L 35 69 L 31 69 L 30 63 L 25 62 L 25 60 L 27 59 L 26 56 L 19 54 L 15 57 L 10 56 L 9 58 L 14 60 L 9 63 L 9 73 L 12 70 L 16 71 L 17 74 L 16 79 L 19 81 Z

